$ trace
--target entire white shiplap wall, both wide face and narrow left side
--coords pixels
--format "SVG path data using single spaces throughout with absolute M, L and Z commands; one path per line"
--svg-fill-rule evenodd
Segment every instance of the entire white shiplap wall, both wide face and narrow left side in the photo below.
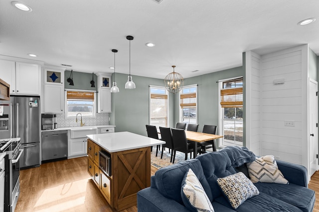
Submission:
M 274 84 L 276 79 L 285 83 Z M 258 154 L 259 138 L 260 155 L 308 167 L 308 45 L 263 56 L 246 52 L 246 86 L 251 122 L 246 124 L 246 146 Z M 295 126 L 285 126 L 285 121 Z

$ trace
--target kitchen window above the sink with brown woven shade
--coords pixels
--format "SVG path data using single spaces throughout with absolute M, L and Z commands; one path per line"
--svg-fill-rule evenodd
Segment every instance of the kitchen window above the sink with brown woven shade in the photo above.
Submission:
M 96 93 L 94 91 L 66 90 L 65 116 L 74 118 L 78 113 L 82 117 L 96 116 Z

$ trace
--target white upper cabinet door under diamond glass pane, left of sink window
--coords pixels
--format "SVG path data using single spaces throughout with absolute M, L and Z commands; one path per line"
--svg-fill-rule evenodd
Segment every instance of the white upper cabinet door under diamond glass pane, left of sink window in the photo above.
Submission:
M 64 86 L 44 84 L 44 112 L 64 113 Z

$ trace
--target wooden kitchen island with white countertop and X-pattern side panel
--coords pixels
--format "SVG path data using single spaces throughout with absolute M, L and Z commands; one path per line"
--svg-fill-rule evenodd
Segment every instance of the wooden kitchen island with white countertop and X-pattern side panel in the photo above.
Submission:
M 137 192 L 151 185 L 150 146 L 165 142 L 130 132 L 87 138 L 88 172 L 102 195 L 117 211 L 135 206 Z

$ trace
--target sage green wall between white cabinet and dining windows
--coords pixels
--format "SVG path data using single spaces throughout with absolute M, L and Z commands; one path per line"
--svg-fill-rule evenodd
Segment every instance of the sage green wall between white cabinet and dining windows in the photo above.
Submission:
M 112 83 L 113 84 L 112 74 Z M 115 79 L 120 89 L 119 93 L 112 93 L 112 113 L 110 125 L 115 125 L 116 132 L 129 131 L 147 136 L 145 125 L 149 124 L 149 85 L 163 86 L 163 79 L 132 75 L 136 89 L 125 89 L 128 74 L 116 73 Z M 169 111 L 173 111 L 173 94 L 169 94 Z M 173 123 L 169 113 L 169 125 Z

